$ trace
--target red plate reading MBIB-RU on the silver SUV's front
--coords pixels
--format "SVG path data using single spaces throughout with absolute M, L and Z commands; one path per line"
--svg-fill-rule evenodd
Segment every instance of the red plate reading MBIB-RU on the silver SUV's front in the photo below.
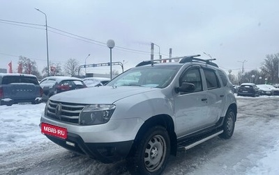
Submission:
M 42 123 L 40 126 L 40 130 L 43 134 L 53 135 L 57 138 L 67 138 L 67 128 Z

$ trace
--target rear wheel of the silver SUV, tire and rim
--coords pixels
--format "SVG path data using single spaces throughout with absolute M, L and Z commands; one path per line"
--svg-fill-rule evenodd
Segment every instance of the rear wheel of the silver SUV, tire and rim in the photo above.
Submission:
M 234 133 L 235 121 L 236 121 L 236 114 L 234 113 L 234 110 L 229 108 L 229 110 L 227 110 L 227 114 L 225 116 L 225 120 L 223 124 L 224 132 L 219 135 L 220 138 L 229 139 L 232 137 L 232 134 Z

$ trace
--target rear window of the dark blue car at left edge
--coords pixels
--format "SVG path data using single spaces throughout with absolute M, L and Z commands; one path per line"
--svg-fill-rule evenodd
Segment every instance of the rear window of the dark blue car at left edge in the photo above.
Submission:
M 38 80 L 36 77 L 28 76 L 3 76 L 2 85 L 8 85 L 10 83 L 32 83 L 38 85 Z

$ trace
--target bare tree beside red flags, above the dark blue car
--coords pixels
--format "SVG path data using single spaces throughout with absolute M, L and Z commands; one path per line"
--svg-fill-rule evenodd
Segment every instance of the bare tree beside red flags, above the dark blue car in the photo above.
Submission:
M 20 73 L 22 72 L 24 74 L 33 74 L 40 77 L 40 73 L 38 72 L 36 61 L 31 61 L 30 58 L 20 56 L 18 65 L 19 65 L 18 69 L 21 69 L 21 71 L 19 70 Z

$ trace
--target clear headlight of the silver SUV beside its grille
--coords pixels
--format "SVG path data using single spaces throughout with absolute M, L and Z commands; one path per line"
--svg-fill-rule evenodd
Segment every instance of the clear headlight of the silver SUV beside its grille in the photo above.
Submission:
M 80 125 L 105 124 L 109 122 L 116 106 L 112 104 L 94 104 L 86 106 L 80 113 Z

